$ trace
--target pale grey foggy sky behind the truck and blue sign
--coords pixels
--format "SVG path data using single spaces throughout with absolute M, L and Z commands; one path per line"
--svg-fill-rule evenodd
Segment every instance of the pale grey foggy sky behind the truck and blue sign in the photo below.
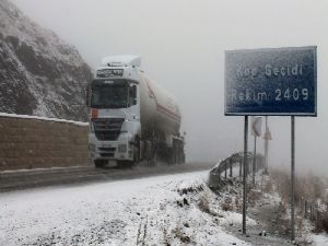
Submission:
M 296 168 L 328 173 L 328 1 L 13 2 L 74 45 L 92 68 L 106 55 L 141 55 L 142 70 L 181 107 L 189 161 L 219 161 L 243 149 L 244 117 L 224 116 L 224 50 L 318 46 L 318 117 L 296 117 Z M 269 117 L 270 165 L 290 166 L 290 121 Z

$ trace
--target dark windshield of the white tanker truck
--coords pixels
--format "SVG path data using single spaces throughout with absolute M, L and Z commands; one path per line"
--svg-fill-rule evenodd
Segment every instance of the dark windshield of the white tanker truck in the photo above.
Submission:
M 126 108 L 129 104 L 127 80 L 93 81 L 91 106 L 95 108 Z

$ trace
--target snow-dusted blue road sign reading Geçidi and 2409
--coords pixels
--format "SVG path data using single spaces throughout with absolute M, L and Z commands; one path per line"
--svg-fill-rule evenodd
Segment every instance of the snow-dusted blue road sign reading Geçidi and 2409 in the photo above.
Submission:
M 225 115 L 317 116 L 316 50 L 225 51 Z

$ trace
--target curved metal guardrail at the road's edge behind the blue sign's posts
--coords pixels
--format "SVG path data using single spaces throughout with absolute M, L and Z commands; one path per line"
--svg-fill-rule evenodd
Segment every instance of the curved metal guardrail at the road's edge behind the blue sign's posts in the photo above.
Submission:
M 243 176 L 243 160 L 244 153 L 237 152 L 224 160 L 220 160 L 220 162 L 210 171 L 209 176 L 209 187 L 214 189 L 220 189 L 222 186 L 226 185 L 229 180 L 233 177 L 242 177 Z M 247 153 L 247 167 L 246 175 L 253 173 L 253 163 L 254 163 L 254 154 Z M 237 174 L 234 172 L 234 167 L 238 167 Z M 256 155 L 256 166 L 255 172 L 265 167 L 265 157 L 261 154 Z

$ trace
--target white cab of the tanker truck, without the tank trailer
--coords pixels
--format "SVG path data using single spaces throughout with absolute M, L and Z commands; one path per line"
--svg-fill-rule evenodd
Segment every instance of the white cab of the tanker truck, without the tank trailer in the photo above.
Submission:
M 89 85 L 89 149 L 96 166 L 136 161 L 140 137 L 139 56 L 106 57 Z

